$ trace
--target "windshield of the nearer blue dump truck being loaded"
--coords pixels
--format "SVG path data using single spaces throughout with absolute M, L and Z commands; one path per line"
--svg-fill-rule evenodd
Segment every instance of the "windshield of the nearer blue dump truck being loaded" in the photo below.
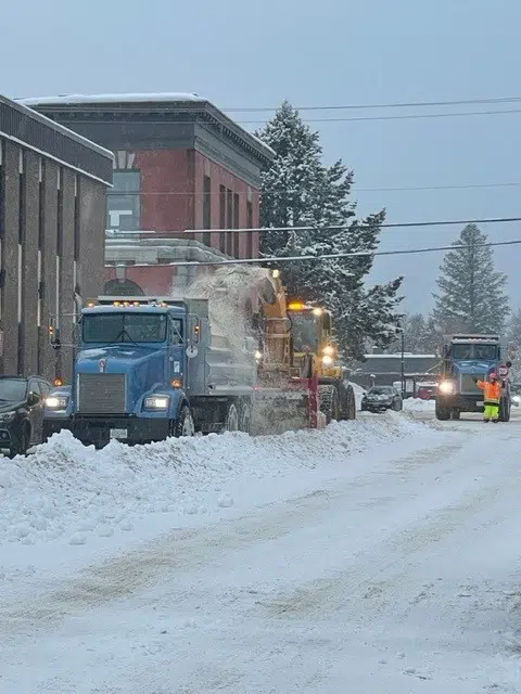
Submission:
M 87 313 L 82 320 L 84 343 L 164 343 L 166 313 Z M 181 321 L 174 321 L 179 333 Z

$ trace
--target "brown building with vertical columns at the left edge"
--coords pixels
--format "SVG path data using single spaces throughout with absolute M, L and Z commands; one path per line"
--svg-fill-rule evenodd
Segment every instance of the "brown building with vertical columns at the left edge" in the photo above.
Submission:
M 74 313 L 103 287 L 112 174 L 111 152 L 0 97 L 2 373 L 55 375 L 49 316 Z M 68 373 L 71 350 L 62 359 Z

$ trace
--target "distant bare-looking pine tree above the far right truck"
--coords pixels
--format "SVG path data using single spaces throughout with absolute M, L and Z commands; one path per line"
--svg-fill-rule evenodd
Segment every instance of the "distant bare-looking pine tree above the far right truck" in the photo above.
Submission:
M 441 294 L 434 295 L 433 317 L 444 333 L 503 333 L 508 316 L 504 294 L 507 278 L 497 272 L 487 236 L 468 224 L 453 243 L 440 268 Z

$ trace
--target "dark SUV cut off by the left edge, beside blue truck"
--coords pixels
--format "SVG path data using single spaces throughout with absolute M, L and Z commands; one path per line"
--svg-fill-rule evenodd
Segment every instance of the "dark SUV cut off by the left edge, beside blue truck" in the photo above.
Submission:
M 50 389 L 40 376 L 0 376 L 0 449 L 11 458 L 41 444 L 43 401 Z

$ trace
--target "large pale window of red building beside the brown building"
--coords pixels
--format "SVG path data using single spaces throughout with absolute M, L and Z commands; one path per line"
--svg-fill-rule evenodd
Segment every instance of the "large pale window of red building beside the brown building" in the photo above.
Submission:
M 141 171 L 115 170 L 107 191 L 107 229 L 139 231 L 141 227 Z

